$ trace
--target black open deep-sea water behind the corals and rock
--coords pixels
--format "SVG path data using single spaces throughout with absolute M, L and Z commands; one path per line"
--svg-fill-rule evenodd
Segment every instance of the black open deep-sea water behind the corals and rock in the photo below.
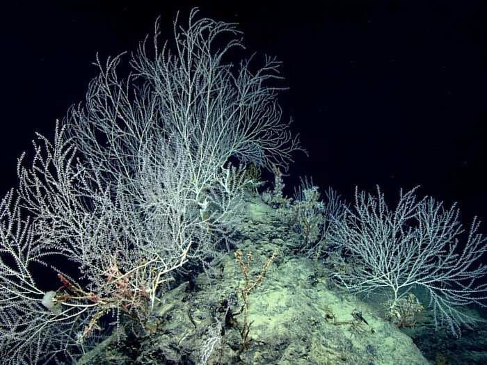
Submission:
M 170 38 L 177 10 L 187 19 L 196 5 L 238 22 L 247 55 L 282 61 L 285 120 L 310 153 L 296 155 L 288 186 L 310 175 L 350 200 L 355 186 L 379 184 L 393 202 L 399 188 L 420 184 L 422 195 L 458 202 L 465 222 L 487 218 L 485 1 L 99 3 L 2 6 L 2 193 L 34 131 L 51 136 L 83 99 L 97 51 L 105 59 L 134 50 L 158 15 Z

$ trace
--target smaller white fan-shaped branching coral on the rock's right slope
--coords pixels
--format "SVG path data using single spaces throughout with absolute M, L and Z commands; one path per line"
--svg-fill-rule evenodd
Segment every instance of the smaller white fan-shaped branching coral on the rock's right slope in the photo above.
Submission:
M 397 206 L 390 209 L 381 190 L 377 195 L 357 190 L 354 209 L 347 209 L 333 232 L 338 248 L 356 264 L 333 275 L 356 293 L 386 291 L 394 310 L 420 289 L 429 296 L 436 325 L 459 335 L 462 326 L 476 321 L 460 309 L 486 306 L 487 284 L 479 282 L 487 273 L 481 265 L 486 237 L 477 232 L 477 218 L 465 232 L 455 205 L 447 209 L 432 197 L 418 200 L 415 191 L 401 191 Z M 463 233 L 466 239 L 460 244 Z

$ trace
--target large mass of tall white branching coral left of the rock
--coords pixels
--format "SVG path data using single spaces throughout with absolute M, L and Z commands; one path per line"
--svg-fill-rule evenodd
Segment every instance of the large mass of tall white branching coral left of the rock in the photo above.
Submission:
M 232 240 L 246 175 L 230 159 L 286 168 L 301 149 L 281 122 L 279 63 L 235 70 L 235 24 L 197 15 L 176 19 L 173 48 L 157 21 L 125 80 L 122 55 L 97 57 L 86 102 L 54 142 L 38 135 L 31 165 L 19 159 L 19 186 L 0 202 L 6 364 L 72 360 L 104 316 L 143 327 L 176 270 L 208 266 Z

